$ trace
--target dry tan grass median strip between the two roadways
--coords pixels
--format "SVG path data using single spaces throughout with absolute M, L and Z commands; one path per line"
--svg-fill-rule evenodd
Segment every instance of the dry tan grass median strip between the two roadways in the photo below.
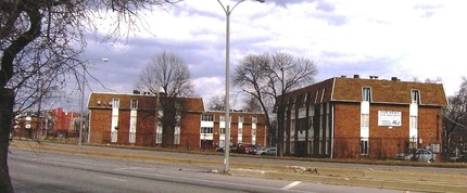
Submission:
M 31 149 L 35 151 L 52 151 L 71 154 L 83 154 L 87 156 L 103 156 L 111 158 L 136 159 L 141 162 L 171 163 L 180 165 L 212 166 L 223 168 L 222 156 L 197 155 L 177 156 L 176 153 L 143 153 L 128 150 L 105 149 L 102 146 L 61 145 L 55 143 L 37 143 L 31 141 L 13 141 L 12 149 Z M 128 156 L 130 152 L 131 156 Z M 341 184 L 354 186 L 368 186 L 380 189 L 392 189 L 401 191 L 421 192 L 466 192 L 467 176 L 458 172 L 434 172 L 429 170 L 405 171 L 400 169 L 358 169 L 352 167 L 328 167 L 313 166 L 285 166 L 272 164 L 274 162 L 255 163 L 231 163 L 229 175 L 287 179 L 291 181 L 308 181 L 326 184 Z M 455 168 L 452 168 L 455 169 Z M 218 170 L 213 172 L 219 172 Z

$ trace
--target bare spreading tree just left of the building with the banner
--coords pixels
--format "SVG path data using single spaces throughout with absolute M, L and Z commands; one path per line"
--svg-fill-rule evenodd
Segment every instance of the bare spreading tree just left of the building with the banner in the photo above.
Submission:
M 272 127 L 272 112 L 277 114 L 278 155 L 283 156 L 286 93 L 312 83 L 317 69 L 313 61 L 294 57 L 288 53 L 247 55 L 236 68 L 234 86 L 255 98 L 266 115 L 266 125 Z M 274 106 L 272 105 L 274 104 Z M 269 132 L 269 134 L 274 134 Z M 288 149 L 286 149 L 288 150 Z

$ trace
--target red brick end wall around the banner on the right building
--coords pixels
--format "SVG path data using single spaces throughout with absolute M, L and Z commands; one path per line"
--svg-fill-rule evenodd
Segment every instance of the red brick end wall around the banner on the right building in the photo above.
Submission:
M 378 111 L 394 111 L 402 113 L 401 127 L 378 126 Z M 418 138 L 422 143 L 441 144 L 441 118 L 439 107 L 419 106 L 418 108 Z M 406 152 L 408 147 L 409 106 L 391 104 L 370 104 L 369 114 L 369 151 L 368 157 L 390 158 L 396 153 Z M 333 156 L 348 158 L 359 157 L 359 103 L 335 104 L 335 146 Z

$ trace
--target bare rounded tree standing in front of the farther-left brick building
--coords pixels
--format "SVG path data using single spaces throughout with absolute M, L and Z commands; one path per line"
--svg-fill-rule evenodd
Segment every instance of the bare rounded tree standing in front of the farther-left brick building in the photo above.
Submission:
M 160 95 L 163 111 L 162 145 L 173 145 L 175 127 L 179 124 L 177 116 L 180 116 L 182 110 L 177 98 L 187 97 L 193 92 L 187 64 L 175 53 L 166 51 L 157 53 L 141 72 L 137 87 Z

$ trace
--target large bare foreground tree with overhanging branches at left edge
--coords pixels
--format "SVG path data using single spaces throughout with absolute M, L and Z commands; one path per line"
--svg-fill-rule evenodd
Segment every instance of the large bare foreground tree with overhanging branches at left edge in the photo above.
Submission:
M 74 69 L 83 64 L 76 59 L 86 46 L 84 34 L 88 29 L 97 30 L 93 18 L 102 16 L 101 13 L 116 15 L 113 17 L 115 25 L 110 28 L 108 37 L 119 37 L 132 31 L 134 27 L 138 28 L 138 25 L 134 25 L 140 21 L 138 11 L 151 10 L 164 3 L 172 2 L 168 0 L 0 1 L 0 192 L 13 192 L 7 158 L 15 95 L 20 88 L 26 88 L 31 77 L 39 72 L 51 73 L 48 76 L 54 81 L 61 73 L 76 74 Z M 122 25 L 125 23 L 128 25 Z M 119 30 L 122 27 L 128 30 L 122 33 Z M 24 89 L 25 99 L 28 92 Z M 24 104 L 29 103 L 26 101 Z

